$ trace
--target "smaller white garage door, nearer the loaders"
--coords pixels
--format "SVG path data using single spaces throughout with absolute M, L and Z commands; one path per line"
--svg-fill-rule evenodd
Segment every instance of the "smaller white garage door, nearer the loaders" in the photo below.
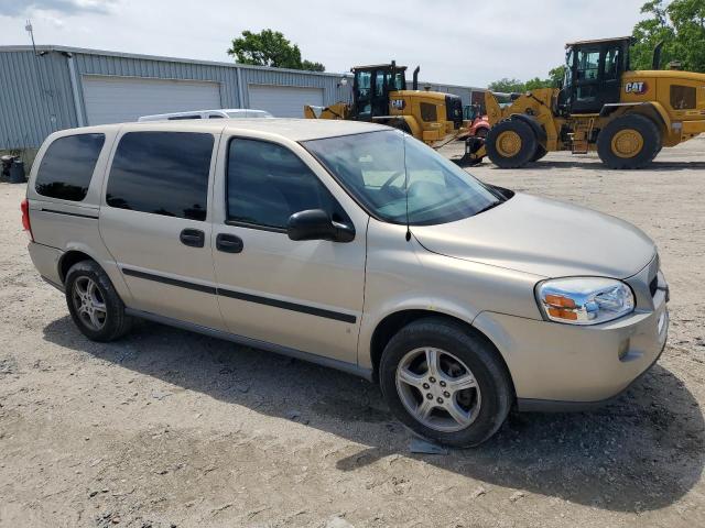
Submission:
M 250 108 L 267 110 L 275 118 L 303 118 L 304 105 L 323 106 L 323 88 L 248 85 Z

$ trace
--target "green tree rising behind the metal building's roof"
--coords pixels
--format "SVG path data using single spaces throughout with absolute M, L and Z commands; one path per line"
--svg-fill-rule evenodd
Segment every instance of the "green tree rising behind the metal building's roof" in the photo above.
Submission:
M 259 33 L 243 31 L 241 36 L 232 40 L 228 55 L 240 64 L 313 72 L 326 69 L 321 63 L 302 61 L 299 46 L 292 44 L 283 33 L 272 30 L 262 30 Z

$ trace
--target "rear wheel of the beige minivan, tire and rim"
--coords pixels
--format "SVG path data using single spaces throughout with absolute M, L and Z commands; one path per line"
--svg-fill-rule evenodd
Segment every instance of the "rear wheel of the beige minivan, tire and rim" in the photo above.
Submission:
M 126 316 L 122 299 L 96 262 L 74 264 L 64 287 L 74 323 L 91 341 L 113 341 L 130 330 L 132 319 Z

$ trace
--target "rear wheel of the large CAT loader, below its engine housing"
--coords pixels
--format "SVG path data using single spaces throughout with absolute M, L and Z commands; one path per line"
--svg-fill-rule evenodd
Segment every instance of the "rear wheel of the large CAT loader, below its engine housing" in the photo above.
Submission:
M 609 168 L 643 168 L 657 157 L 661 146 L 661 130 L 639 113 L 615 119 L 597 136 L 597 154 Z M 629 152 L 631 147 L 633 153 Z

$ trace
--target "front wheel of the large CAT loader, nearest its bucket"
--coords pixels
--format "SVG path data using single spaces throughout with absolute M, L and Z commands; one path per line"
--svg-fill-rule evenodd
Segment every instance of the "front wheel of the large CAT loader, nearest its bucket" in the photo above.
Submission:
M 539 140 L 529 123 L 520 119 L 507 119 L 489 129 L 485 144 L 487 155 L 495 165 L 519 168 L 532 161 Z

